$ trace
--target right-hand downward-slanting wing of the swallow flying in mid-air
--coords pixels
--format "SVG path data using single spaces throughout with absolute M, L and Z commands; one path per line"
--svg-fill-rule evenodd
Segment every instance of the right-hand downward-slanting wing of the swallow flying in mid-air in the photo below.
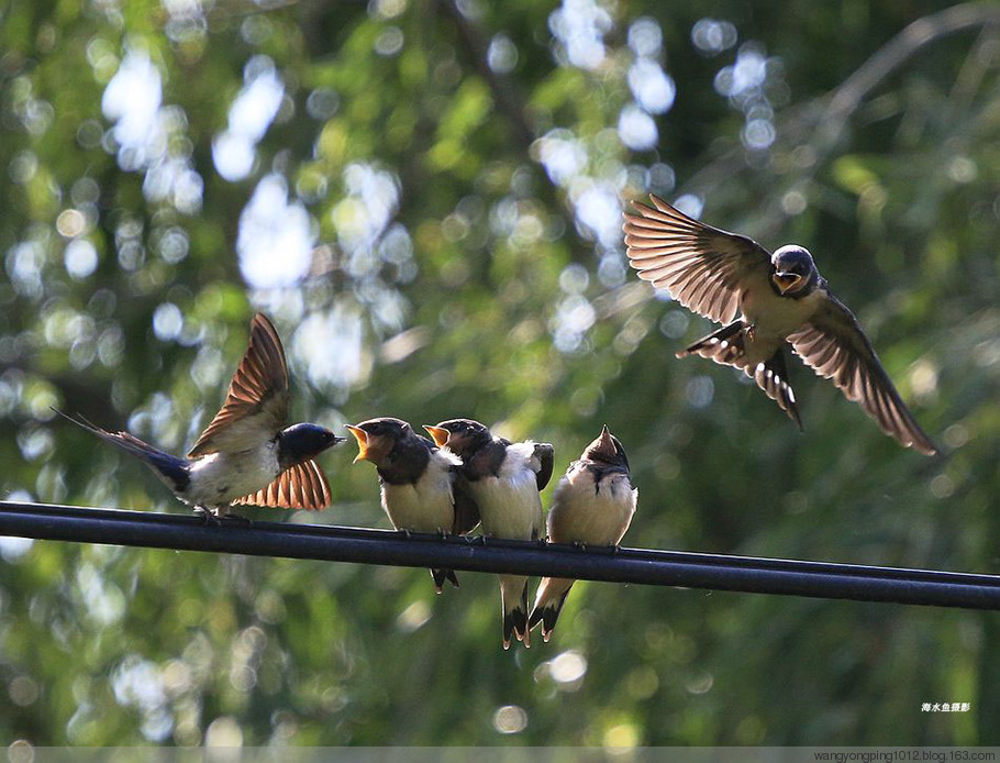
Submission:
M 825 303 L 810 322 L 789 334 L 796 353 L 816 374 L 833 379 L 848 400 L 901 445 L 926 455 L 937 453 L 896 391 L 854 313 L 829 291 L 824 296 Z

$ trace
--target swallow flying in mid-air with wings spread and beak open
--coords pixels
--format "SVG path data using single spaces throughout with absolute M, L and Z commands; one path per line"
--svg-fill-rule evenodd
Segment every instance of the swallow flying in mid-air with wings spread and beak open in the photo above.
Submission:
M 723 328 L 677 357 L 742 368 L 802 429 L 784 349 L 860 405 L 881 430 L 926 455 L 937 447 L 886 374 L 860 324 L 827 288 L 812 255 L 789 244 L 770 254 L 743 235 L 705 225 L 651 196 L 625 213 L 625 244 L 640 278 Z M 738 320 L 737 311 L 741 313 Z

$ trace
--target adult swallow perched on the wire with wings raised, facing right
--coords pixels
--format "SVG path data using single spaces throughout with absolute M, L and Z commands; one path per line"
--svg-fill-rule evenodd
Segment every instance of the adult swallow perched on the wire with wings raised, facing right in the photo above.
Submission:
M 344 438 L 318 424 L 288 427 L 289 398 L 281 340 L 258 312 L 225 402 L 187 458 L 129 432 L 109 432 L 82 417 L 56 412 L 142 458 L 175 496 L 208 520 L 243 504 L 313 510 L 330 506 L 330 485 L 314 458 Z

